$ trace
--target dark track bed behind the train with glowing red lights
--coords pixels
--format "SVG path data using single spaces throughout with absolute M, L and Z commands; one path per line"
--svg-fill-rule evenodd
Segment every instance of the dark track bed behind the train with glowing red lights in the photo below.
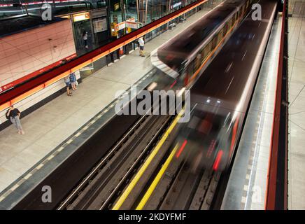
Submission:
M 187 152 L 188 153 L 188 152 Z M 190 154 L 190 153 L 189 153 Z M 149 210 L 208 210 L 217 192 L 220 172 L 194 167 L 195 155 L 174 160 L 146 204 Z

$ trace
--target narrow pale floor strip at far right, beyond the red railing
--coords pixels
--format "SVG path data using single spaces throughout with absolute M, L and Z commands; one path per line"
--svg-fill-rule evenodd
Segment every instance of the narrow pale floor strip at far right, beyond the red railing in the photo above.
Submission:
M 304 16 L 289 18 L 288 209 L 305 209 Z

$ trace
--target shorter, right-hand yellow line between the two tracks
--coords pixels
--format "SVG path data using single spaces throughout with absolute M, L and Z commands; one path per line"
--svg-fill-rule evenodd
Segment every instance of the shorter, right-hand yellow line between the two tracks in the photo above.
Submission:
M 171 160 L 173 159 L 173 155 L 176 154 L 178 148 L 178 144 L 176 144 L 175 148 L 173 148 L 173 151 L 171 151 L 171 154 L 169 155 L 169 157 L 166 159 L 166 161 L 164 162 L 164 165 L 162 166 L 162 168 L 160 169 L 159 173 L 157 174 L 157 176 L 155 177 L 154 181 L 152 181 L 152 184 L 150 185 L 150 187 L 148 188 L 148 190 L 146 191 L 145 195 L 143 196 L 141 202 L 138 204 L 138 206 L 136 207 L 136 210 L 142 210 L 143 207 L 146 205 L 146 202 L 148 201 L 148 199 L 150 198 L 150 196 L 152 195 L 152 192 L 155 190 L 157 184 L 159 183 L 159 181 L 161 180 L 161 177 L 163 176 L 164 172 L 166 171 L 167 167 L 169 167 L 169 163 L 171 162 Z

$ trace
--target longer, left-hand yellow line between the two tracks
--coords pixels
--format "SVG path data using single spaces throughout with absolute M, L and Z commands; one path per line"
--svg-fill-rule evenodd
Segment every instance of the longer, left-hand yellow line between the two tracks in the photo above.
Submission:
M 141 178 L 143 173 L 146 171 L 148 165 L 150 165 L 150 162 L 153 160 L 153 158 L 155 158 L 155 155 L 157 155 L 157 153 L 159 152 L 159 149 L 164 144 L 164 141 L 167 139 L 167 137 L 169 137 L 169 134 L 173 130 L 173 127 L 175 127 L 177 125 L 178 120 L 181 118 L 183 113 L 184 113 L 184 108 L 180 111 L 180 113 L 178 113 L 178 116 L 173 120 L 173 123 L 171 123 L 171 125 L 169 126 L 169 129 L 166 130 L 166 132 L 162 136 L 162 139 L 159 141 L 157 146 L 155 146 L 155 149 L 152 151 L 152 153 L 150 153 L 150 156 L 148 157 L 146 162 L 144 162 L 143 166 L 141 167 L 139 172 L 136 174 L 136 176 L 134 176 L 134 179 L 132 179 L 132 182 L 129 183 L 129 186 L 125 189 L 124 193 L 122 193 L 121 197 L 115 203 L 115 205 L 113 206 L 112 210 L 120 209 L 122 204 L 127 199 L 128 195 L 132 192 L 132 189 L 134 189 L 134 186 L 136 186 L 136 183 L 138 183 L 139 179 Z

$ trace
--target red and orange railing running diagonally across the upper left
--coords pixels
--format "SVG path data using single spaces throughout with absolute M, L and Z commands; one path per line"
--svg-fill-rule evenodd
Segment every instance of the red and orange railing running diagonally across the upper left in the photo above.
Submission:
M 61 64 L 60 66 L 54 67 L 49 71 L 45 71 L 44 73 L 27 80 L 20 85 L 13 87 L 6 92 L 2 92 L 0 94 L 0 111 L 8 108 L 11 104 L 15 104 L 20 102 L 22 99 L 29 97 L 31 94 L 42 90 L 43 88 L 55 83 L 57 80 L 64 78 L 64 76 L 69 75 L 69 73 L 77 71 L 83 66 L 87 64 L 91 64 L 92 62 L 97 61 L 101 57 L 108 55 L 115 50 L 118 50 L 123 45 L 127 45 L 132 41 L 136 40 L 137 38 L 148 34 L 150 31 L 165 25 L 167 22 L 178 18 L 180 15 L 187 13 L 188 11 L 200 6 L 202 3 L 208 0 L 198 0 L 190 3 L 189 5 L 176 10 L 169 15 L 165 15 L 163 18 L 159 18 L 150 24 L 136 29 L 131 33 L 122 36 L 121 38 L 116 39 L 115 41 L 108 43 L 100 48 L 92 50 L 91 52 L 87 52 L 85 55 L 80 57 L 71 59 L 71 61 L 67 62 L 66 64 Z

